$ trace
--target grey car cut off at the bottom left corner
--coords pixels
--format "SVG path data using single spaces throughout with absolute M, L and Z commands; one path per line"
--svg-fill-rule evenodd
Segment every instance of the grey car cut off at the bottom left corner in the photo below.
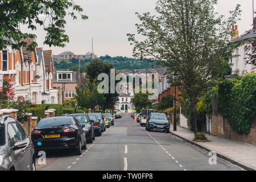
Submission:
M 36 170 L 31 139 L 13 117 L 0 118 L 0 171 Z

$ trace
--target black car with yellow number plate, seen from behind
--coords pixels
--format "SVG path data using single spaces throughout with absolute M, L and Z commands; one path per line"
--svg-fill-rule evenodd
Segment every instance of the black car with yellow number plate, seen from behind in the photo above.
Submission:
M 81 155 L 86 149 L 86 131 L 73 117 L 52 117 L 39 121 L 31 133 L 36 152 L 53 149 L 72 149 Z

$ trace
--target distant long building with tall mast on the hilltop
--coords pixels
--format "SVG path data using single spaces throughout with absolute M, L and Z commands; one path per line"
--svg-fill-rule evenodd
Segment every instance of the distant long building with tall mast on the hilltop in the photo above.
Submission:
M 75 55 L 75 53 L 71 51 L 65 51 L 60 53 L 59 55 L 53 55 L 53 60 L 71 60 L 71 59 L 96 59 L 97 56 L 94 54 L 93 50 L 93 39 L 92 39 L 92 52 L 87 52 L 85 55 Z

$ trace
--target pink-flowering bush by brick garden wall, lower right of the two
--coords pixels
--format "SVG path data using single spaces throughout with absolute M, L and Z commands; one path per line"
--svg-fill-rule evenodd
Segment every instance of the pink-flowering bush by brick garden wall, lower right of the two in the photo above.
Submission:
M 9 100 L 7 104 L 7 109 L 18 109 L 17 117 L 18 119 L 24 118 L 27 113 L 30 113 L 33 110 L 31 107 L 32 102 L 23 96 L 18 98 L 13 98 Z

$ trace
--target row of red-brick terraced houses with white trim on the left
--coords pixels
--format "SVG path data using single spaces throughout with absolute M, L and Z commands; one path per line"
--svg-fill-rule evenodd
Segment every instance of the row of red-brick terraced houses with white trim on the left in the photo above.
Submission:
M 6 49 L 0 51 L 0 78 L 3 78 L 1 80 L 11 80 L 17 97 L 26 97 L 34 104 L 56 104 L 57 90 L 53 90 L 53 84 L 50 84 L 53 75 L 51 51 L 46 52 L 47 64 L 45 64 L 42 48 L 34 48 L 32 52 L 27 51 L 27 47 L 15 50 L 12 46 L 16 42 L 12 38 L 3 39 L 9 44 L 6 45 Z M 27 38 L 21 41 L 30 45 L 33 39 Z

